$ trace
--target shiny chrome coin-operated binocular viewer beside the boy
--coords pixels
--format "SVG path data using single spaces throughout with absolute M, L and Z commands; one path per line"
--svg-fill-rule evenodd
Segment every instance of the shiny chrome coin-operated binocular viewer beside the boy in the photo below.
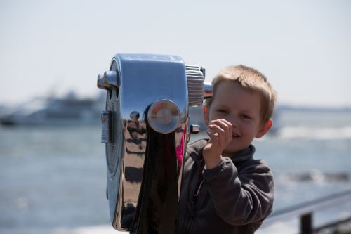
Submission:
M 112 226 L 178 233 L 178 198 L 190 133 L 189 108 L 212 96 L 201 66 L 179 56 L 117 54 L 98 75 L 107 91 L 101 141 Z

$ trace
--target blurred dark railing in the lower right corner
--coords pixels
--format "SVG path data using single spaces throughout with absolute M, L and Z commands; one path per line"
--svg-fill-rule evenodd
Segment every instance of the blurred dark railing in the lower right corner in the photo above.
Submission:
M 291 207 L 279 209 L 273 212 L 270 215 L 270 217 L 263 222 L 262 228 L 271 226 L 277 221 L 282 221 L 292 217 L 299 217 L 301 234 L 319 233 L 320 231 L 326 228 L 331 228 L 343 223 L 350 222 L 351 216 L 348 216 L 346 219 L 341 219 L 341 220 L 333 221 L 331 223 L 326 223 L 323 226 L 314 227 L 312 223 L 313 214 L 320 210 L 324 210 L 330 207 L 335 207 L 338 204 L 343 204 L 350 201 L 351 201 L 351 190 L 345 190 L 340 193 L 334 193 L 325 197 L 320 197 L 310 202 L 303 202 L 301 204 L 296 204 Z

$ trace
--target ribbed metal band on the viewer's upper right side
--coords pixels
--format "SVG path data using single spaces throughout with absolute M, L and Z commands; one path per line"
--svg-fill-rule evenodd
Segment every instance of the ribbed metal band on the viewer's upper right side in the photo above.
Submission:
M 189 106 L 202 105 L 204 100 L 204 73 L 200 66 L 185 65 Z

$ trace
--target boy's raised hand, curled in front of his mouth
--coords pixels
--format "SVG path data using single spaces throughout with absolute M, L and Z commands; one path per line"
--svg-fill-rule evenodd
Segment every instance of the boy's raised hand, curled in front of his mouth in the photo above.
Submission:
M 212 120 L 208 125 L 208 136 L 210 140 L 202 151 L 206 168 L 217 167 L 222 160 L 222 152 L 230 141 L 232 141 L 232 124 L 225 119 Z

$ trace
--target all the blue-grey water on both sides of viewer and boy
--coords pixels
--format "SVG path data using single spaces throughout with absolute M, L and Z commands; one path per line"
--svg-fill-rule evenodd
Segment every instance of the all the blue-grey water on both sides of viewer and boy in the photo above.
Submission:
M 350 112 L 283 112 L 279 122 L 276 136 L 254 142 L 274 172 L 274 209 L 351 189 Z M 100 126 L 0 127 L 0 233 L 115 233 L 105 174 Z M 334 217 L 351 214 L 343 208 Z

